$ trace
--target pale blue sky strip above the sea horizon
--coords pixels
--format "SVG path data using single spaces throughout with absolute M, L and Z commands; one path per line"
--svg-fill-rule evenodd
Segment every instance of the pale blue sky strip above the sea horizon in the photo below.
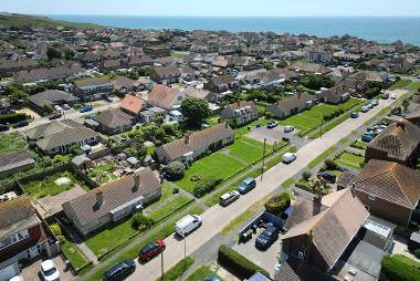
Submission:
M 0 0 L 34 14 L 339 17 L 420 15 L 420 0 Z

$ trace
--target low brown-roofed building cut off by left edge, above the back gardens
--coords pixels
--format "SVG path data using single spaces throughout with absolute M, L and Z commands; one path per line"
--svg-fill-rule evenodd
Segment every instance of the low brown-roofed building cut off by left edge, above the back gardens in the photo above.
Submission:
M 28 150 L 0 156 L 0 178 L 14 173 L 25 171 L 35 166 L 35 160 Z

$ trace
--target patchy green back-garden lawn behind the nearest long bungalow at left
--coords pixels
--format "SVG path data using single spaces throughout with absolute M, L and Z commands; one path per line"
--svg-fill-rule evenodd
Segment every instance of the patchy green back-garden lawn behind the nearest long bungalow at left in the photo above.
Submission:
M 64 185 L 57 185 L 54 183 L 57 178 L 61 177 L 67 177 L 70 178 L 71 183 L 70 184 L 64 184 Z M 62 171 L 54 174 L 52 176 L 48 176 L 42 180 L 32 180 L 22 186 L 23 190 L 29 194 L 30 196 L 34 198 L 42 198 L 48 195 L 57 195 L 61 194 L 65 190 L 69 190 L 73 188 L 74 186 L 81 186 L 84 189 L 87 189 L 87 187 L 76 179 L 76 177 L 69 170 Z

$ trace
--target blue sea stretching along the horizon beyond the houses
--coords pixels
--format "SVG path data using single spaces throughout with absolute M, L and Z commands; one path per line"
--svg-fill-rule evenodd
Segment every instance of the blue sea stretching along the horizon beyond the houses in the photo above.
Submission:
M 355 35 L 380 43 L 401 40 L 420 45 L 420 17 L 343 18 L 238 18 L 238 17 L 136 17 L 136 15 L 48 15 L 52 19 L 90 22 L 129 29 L 182 29 L 274 31 L 317 37 Z

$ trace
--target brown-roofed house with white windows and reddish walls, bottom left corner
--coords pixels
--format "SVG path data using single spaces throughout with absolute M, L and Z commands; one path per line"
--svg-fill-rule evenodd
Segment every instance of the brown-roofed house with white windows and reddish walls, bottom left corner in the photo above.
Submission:
M 29 196 L 0 202 L 0 280 L 18 275 L 18 262 L 40 256 L 45 242 L 45 232 Z

